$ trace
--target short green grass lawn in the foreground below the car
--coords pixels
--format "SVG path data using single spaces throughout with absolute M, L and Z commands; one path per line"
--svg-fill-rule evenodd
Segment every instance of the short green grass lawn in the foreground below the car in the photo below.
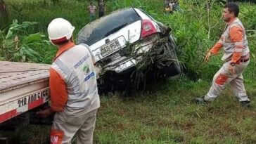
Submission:
M 250 110 L 241 107 L 229 88 L 211 104 L 194 104 L 194 98 L 207 93 L 209 86 L 205 81 L 181 78 L 132 97 L 103 96 L 94 140 L 97 143 L 256 143 L 255 104 L 252 103 Z

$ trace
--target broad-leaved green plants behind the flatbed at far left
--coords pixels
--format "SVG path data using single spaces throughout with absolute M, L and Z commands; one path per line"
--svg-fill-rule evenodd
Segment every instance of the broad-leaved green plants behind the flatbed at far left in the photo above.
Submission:
M 1 50 L 0 59 L 21 62 L 37 62 L 41 56 L 34 48 L 44 43 L 45 36 L 40 33 L 28 34 L 26 28 L 36 25 L 37 22 L 23 22 L 18 24 L 18 20 L 13 20 L 13 24 L 8 29 L 7 34 L 0 31 Z

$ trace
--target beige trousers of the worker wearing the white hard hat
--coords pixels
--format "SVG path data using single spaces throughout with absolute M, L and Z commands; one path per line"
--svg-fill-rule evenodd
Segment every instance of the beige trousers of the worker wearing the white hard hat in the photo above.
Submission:
M 51 144 L 70 144 L 75 134 L 77 144 L 92 144 L 96 112 L 93 110 L 79 117 L 67 117 L 65 113 L 57 112 L 51 127 Z

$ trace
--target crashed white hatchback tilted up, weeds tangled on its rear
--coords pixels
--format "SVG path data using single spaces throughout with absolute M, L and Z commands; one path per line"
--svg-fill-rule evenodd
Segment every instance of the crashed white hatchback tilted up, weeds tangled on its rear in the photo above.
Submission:
M 77 44 L 87 44 L 94 56 L 99 90 L 141 89 L 181 72 L 170 27 L 140 8 L 90 22 L 77 34 Z

